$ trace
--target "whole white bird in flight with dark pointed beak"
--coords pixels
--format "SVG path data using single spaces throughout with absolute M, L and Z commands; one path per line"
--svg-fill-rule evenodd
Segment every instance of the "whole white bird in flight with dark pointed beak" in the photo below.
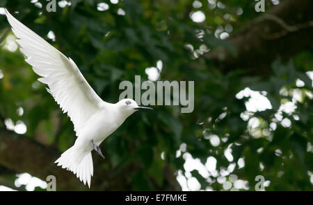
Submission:
M 99 148 L 102 141 L 138 109 L 152 108 L 139 107 L 132 99 L 123 99 L 115 104 L 104 102 L 83 78 L 72 59 L 24 26 L 8 10 L 6 17 L 18 38 L 20 51 L 27 57 L 25 61 L 42 77 L 38 80 L 48 85 L 47 91 L 74 124 L 77 140 L 55 163 L 74 172 L 90 188 L 93 176 L 91 151 L 96 150 L 104 157 Z

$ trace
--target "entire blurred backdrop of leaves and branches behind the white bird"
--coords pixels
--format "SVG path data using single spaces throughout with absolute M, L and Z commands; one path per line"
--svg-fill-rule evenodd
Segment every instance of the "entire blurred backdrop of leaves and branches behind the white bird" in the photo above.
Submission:
M 54 165 L 73 125 L 24 62 L 8 8 L 109 103 L 134 75 L 195 82 L 192 113 L 153 106 L 102 143 L 90 190 L 255 190 L 257 175 L 265 190 L 313 190 L 313 3 L 264 2 L 1 0 L 0 189 L 55 175 L 57 190 L 89 190 Z

